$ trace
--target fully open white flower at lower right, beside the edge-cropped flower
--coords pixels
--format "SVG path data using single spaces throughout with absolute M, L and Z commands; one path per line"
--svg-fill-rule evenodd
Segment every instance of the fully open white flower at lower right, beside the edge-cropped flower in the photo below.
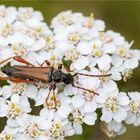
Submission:
M 101 121 L 109 123 L 115 120 L 120 123 L 126 119 L 129 98 L 123 92 L 118 93 L 113 81 L 104 84 L 104 88 L 97 97 L 97 102 L 102 107 Z

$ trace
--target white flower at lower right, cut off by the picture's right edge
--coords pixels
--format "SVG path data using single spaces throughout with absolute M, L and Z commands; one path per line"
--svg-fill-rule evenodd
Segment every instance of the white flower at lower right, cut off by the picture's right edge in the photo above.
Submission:
M 127 124 L 133 124 L 134 126 L 140 125 L 140 93 L 129 92 L 130 97 L 129 110 L 126 118 Z

